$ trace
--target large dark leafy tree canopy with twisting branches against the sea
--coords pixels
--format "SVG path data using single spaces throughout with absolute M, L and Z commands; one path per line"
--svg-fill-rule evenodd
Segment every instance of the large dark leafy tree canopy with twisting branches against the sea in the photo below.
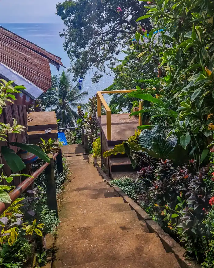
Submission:
M 144 5 L 138 0 L 69 0 L 57 5 L 56 14 L 67 27 L 61 36 L 65 37 L 74 79 L 84 77 L 94 66 L 92 82 L 98 82 L 136 29 L 150 29 L 149 19 L 141 25 L 136 22 L 146 13 Z

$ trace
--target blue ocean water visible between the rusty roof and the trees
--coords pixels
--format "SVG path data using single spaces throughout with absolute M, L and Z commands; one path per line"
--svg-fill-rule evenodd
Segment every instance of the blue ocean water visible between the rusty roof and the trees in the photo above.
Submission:
M 59 32 L 64 28 L 63 23 L 2 23 L 1 26 L 62 58 L 62 63 L 65 67 L 68 68 L 70 66 L 70 59 L 63 47 L 64 38 L 61 38 L 59 35 Z M 50 68 L 53 75 L 58 74 L 55 66 L 50 64 Z M 59 72 L 63 69 L 65 68 L 60 67 Z M 112 75 L 104 75 L 99 83 L 92 85 L 92 76 L 93 70 L 90 70 L 83 81 L 82 89 L 88 91 L 85 103 L 90 97 L 94 96 L 97 91 L 105 89 L 113 83 Z M 110 97 L 108 95 L 105 94 L 104 97 L 109 101 Z

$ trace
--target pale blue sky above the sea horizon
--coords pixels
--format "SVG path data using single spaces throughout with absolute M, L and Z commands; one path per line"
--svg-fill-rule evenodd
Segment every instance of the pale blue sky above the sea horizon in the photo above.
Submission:
M 55 15 L 56 4 L 61 0 L 1 0 L 0 23 L 62 23 Z

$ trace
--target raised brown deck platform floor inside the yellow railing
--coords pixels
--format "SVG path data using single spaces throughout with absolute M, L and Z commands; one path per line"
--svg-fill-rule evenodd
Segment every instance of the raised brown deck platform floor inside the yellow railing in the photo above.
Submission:
M 135 134 L 138 126 L 138 117 L 129 116 L 129 114 L 111 115 L 112 119 L 112 139 L 108 141 L 108 145 L 120 144 L 127 140 L 127 137 Z M 97 118 L 99 127 L 107 140 L 107 124 L 106 115 Z

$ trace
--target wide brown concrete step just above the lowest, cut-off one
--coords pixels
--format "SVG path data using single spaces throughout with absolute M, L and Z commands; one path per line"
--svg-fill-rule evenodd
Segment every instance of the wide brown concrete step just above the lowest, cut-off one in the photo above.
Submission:
M 141 235 L 119 236 L 112 239 L 91 239 L 64 243 L 57 251 L 57 259 L 53 268 L 62 266 L 81 265 L 90 262 L 121 260 L 137 257 L 153 267 L 176 267 L 171 262 L 169 266 L 167 253 L 156 233 Z M 175 258 L 175 257 L 174 257 Z M 145 263 L 144 262 L 144 263 Z M 176 259 L 174 264 L 177 263 Z M 148 267 L 148 266 L 147 266 Z M 179 267 L 179 266 L 177 266 Z M 116 268 L 116 267 L 115 267 Z

